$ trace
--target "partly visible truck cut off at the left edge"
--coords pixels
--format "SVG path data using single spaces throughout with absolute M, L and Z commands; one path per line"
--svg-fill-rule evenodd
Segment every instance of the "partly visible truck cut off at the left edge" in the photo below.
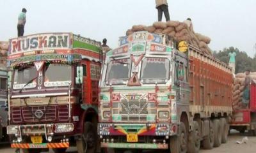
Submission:
M 0 142 L 7 140 L 7 80 L 8 71 L 6 65 L 0 63 Z

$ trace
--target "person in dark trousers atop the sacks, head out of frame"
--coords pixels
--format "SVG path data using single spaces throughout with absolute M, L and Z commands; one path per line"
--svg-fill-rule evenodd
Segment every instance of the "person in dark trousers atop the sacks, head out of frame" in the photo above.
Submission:
M 162 21 L 163 12 L 166 21 L 170 20 L 167 0 L 156 0 L 156 9 L 158 11 L 158 21 Z

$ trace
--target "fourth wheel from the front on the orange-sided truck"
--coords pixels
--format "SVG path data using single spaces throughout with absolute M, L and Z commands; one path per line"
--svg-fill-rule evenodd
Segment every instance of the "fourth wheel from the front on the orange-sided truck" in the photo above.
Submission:
M 221 127 L 220 120 L 213 120 L 213 131 L 214 131 L 214 147 L 220 147 L 221 145 Z

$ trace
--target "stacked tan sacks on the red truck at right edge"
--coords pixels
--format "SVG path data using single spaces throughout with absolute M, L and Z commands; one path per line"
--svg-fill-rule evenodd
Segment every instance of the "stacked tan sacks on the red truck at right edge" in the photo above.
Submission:
M 241 110 L 244 108 L 242 103 L 243 100 L 243 91 L 244 91 L 244 80 L 245 80 L 245 73 L 237 73 L 236 78 L 234 79 L 234 86 L 233 86 L 233 110 Z M 256 80 L 256 72 L 251 72 L 250 77 L 253 80 Z

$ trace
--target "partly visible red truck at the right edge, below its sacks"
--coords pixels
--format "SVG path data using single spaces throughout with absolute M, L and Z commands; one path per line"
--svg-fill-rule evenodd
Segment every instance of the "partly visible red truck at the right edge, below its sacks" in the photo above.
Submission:
M 230 129 L 236 129 L 240 133 L 248 130 L 249 135 L 256 136 L 256 85 L 250 85 L 250 102 L 248 107 L 234 110 Z

